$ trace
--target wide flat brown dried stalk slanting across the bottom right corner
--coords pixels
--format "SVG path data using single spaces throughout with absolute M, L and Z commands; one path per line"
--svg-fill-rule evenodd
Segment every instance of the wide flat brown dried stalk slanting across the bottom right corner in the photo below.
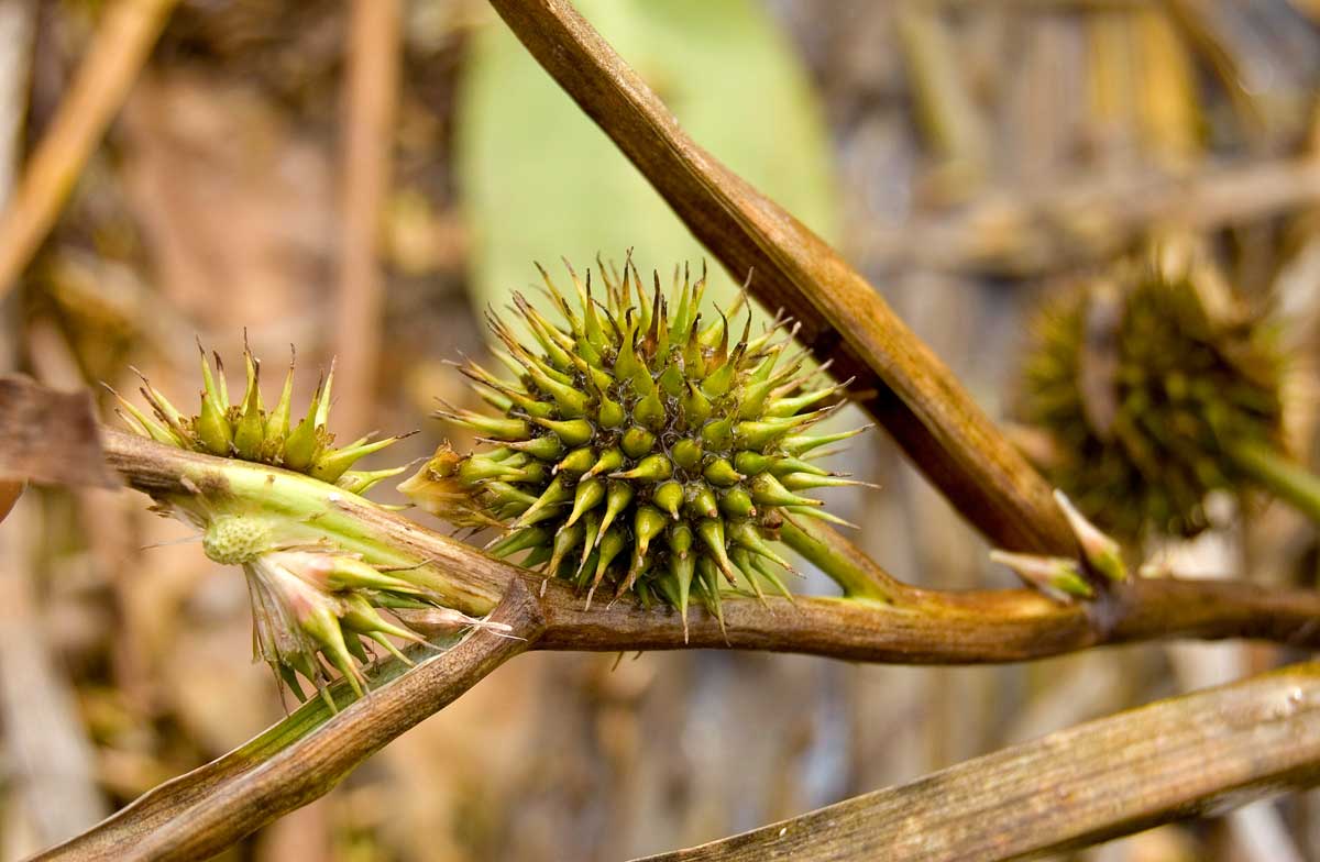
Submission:
M 1036 858 L 1317 780 L 1320 664 L 1309 663 L 645 862 Z

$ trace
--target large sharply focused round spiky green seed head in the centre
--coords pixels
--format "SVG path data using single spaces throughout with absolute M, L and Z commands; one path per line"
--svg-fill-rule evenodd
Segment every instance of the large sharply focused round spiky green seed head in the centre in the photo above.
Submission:
M 645 296 L 631 261 L 605 267 L 603 302 L 569 267 L 570 304 L 541 269 L 561 322 L 515 294 L 513 310 L 536 348 L 496 314 L 487 321 L 513 374 L 463 366 L 499 416 L 446 409 L 494 448 L 461 457 L 442 446 L 400 486 L 417 504 L 457 524 L 504 524 L 491 547 L 527 552 L 529 566 L 586 590 L 660 598 L 686 616 L 689 595 L 719 615 L 721 581 L 762 595 L 784 591 L 771 547 L 784 519 L 822 517 L 820 487 L 858 484 L 805 458 L 857 432 L 804 432 L 838 407 L 846 384 L 812 388 L 820 371 L 777 319 L 758 338 L 751 317 L 730 337 L 723 312 L 702 319 L 705 273 L 675 271 L 671 297 L 655 277 Z M 681 286 L 680 286 L 681 284 Z

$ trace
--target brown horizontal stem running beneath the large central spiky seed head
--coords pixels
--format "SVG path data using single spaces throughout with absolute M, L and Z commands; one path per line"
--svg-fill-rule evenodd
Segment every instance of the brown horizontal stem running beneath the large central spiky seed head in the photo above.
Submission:
M 222 467 L 213 458 L 103 432 L 110 465 L 139 490 L 170 495 L 187 488 L 185 473 Z M 265 470 L 265 467 L 253 467 Z M 275 470 L 273 473 L 284 474 Z M 541 576 L 520 569 L 447 536 L 343 495 L 342 514 L 362 521 L 379 541 L 389 541 L 445 572 L 463 610 L 487 613 L 506 585 L 517 578 L 540 589 Z M 836 553 L 855 554 L 837 533 Z M 1262 638 L 1299 647 L 1320 647 L 1320 593 L 1265 590 L 1234 581 L 1139 580 L 1117 589 L 1104 603 L 1060 605 L 1030 590 L 946 593 L 900 583 L 867 561 L 869 577 L 884 585 L 886 601 L 803 597 L 727 598 L 725 630 L 702 610 L 689 610 L 689 631 L 669 609 L 644 610 L 630 601 L 591 610 L 561 581 L 539 599 L 546 628 L 540 649 L 681 649 L 686 646 L 804 652 L 862 661 L 902 664 L 979 664 L 1020 661 L 1082 649 L 1100 643 L 1159 638 Z

